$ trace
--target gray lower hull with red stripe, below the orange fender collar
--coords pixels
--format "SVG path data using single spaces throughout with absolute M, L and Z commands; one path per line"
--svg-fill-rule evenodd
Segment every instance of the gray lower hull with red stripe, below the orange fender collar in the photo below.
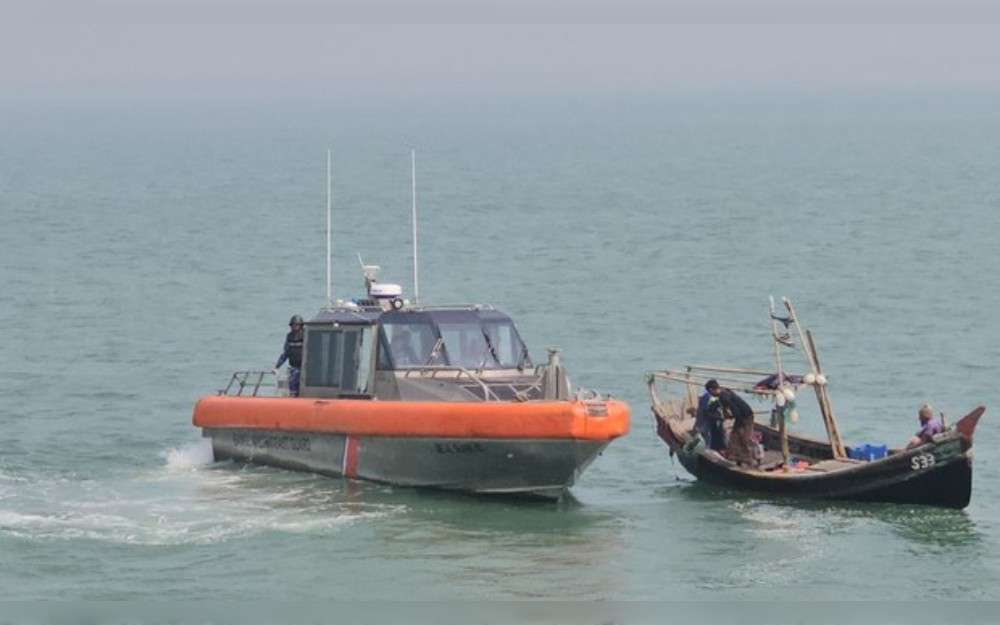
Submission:
M 610 441 L 355 436 L 203 428 L 216 460 L 386 484 L 558 499 Z

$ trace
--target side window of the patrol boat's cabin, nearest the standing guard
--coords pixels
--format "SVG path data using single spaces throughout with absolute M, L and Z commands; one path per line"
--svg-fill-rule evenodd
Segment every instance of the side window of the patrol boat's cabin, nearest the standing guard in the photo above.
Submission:
M 307 328 L 303 381 L 310 394 L 367 394 L 373 334 L 371 326 Z

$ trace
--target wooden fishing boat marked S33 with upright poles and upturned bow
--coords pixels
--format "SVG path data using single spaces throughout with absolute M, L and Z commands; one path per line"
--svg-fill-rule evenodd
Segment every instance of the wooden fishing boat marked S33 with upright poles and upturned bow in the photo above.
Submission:
M 773 300 L 771 304 L 777 372 L 692 365 L 647 376 L 657 433 L 671 455 L 676 454 L 699 480 L 735 489 L 813 499 L 966 507 L 972 494 L 973 435 L 985 408 L 976 408 L 952 427 L 945 424 L 943 432 L 923 444 L 865 457 L 864 449 L 843 444 L 812 334 L 801 327 L 791 302 L 785 299 L 784 304 L 787 317 L 778 317 Z M 783 366 L 782 349 L 796 347 L 789 332 L 792 327 L 808 367 L 805 375 L 791 375 Z M 709 449 L 696 430 L 698 393 L 709 379 L 774 402 L 769 410 L 754 411 L 756 462 L 735 462 L 726 451 Z M 805 387 L 815 392 L 825 441 L 788 431 L 789 422 L 797 417 L 796 391 Z M 673 390 L 677 392 L 671 394 Z M 756 418 L 768 415 L 768 423 Z

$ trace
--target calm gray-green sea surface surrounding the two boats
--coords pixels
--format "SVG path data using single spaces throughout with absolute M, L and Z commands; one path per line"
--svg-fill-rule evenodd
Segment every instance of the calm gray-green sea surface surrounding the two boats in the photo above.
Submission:
M 1000 599 L 1000 95 L 4 105 L 0 597 Z M 560 504 L 213 462 L 191 425 L 357 254 L 487 302 L 632 431 Z M 849 443 L 988 406 L 963 511 L 695 483 L 644 374 L 817 336 Z M 822 431 L 803 409 L 798 428 Z

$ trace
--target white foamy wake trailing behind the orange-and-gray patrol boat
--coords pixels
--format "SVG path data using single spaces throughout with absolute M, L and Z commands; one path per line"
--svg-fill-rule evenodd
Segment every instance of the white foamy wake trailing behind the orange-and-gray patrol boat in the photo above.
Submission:
M 324 535 L 405 512 L 359 500 L 340 480 L 217 466 L 208 441 L 161 456 L 158 468 L 102 480 L 6 471 L 0 538 L 212 544 L 271 532 Z

